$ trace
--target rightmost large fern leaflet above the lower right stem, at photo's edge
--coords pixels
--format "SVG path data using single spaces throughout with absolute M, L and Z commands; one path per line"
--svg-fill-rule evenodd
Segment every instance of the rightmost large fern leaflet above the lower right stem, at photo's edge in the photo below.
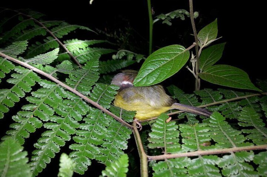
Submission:
M 242 127 L 253 127 L 253 129 L 243 129 L 242 132 L 248 133 L 246 138 L 249 138 L 256 145 L 267 144 L 267 128 L 265 123 L 259 117 L 258 113 L 251 107 L 242 108 L 240 116 L 237 118 L 238 124 Z

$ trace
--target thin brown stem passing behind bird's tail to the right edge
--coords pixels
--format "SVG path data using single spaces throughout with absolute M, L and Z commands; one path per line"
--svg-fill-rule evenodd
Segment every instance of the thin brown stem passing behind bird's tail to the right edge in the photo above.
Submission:
M 267 92 L 255 93 L 255 94 L 246 95 L 246 96 L 238 96 L 238 97 L 235 97 L 235 98 L 230 98 L 230 99 L 227 99 L 227 100 L 222 100 L 222 101 L 219 101 L 219 102 L 213 102 L 213 103 L 209 103 L 209 104 L 205 104 L 205 105 L 200 105 L 200 106 L 196 106 L 196 107 L 204 108 L 204 107 L 209 107 L 209 106 L 213 106 L 213 105 L 217 105 L 217 104 L 221 104 L 221 103 L 226 103 L 226 102 L 231 102 L 231 101 L 236 101 L 236 100 L 241 100 L 241 99 L 249 98 L 249 97 L 252 97 L 252 96 L 261 96 L 261 95 L 267 95 Z M 182 113 L 182 112 L 184 112 L 184 111 L 171 112 L 171 113 L 168 113 L 168 116 L 171 116 L 171 115 L 174 115 L 174 114 L 179 114 L 179 113 Z M 152 117 L 152 118 L 146 119 L 146 120 L 139 120 L 138 122 L 147 122 L 147 121 L 154 120 L 156 118 L 157 117 Z

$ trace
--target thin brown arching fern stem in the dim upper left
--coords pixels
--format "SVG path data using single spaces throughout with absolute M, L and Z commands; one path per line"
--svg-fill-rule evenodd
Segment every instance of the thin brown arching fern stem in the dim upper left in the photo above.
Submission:
M 44 26 L 43 23 L 39 22 L 37 19 L 32 18 L 30 15 L 27 15 L 25 13 L 21 13 L 19 11 L 12 10 L 12 9 L 8 9 L 8 10 L 11 10 L 11 11 L 14 11 L 14 12 L 16 12 L 18 14 L 24 15 L 24 16 L 32 19 L 36 23 L 38 23 L 40 26 L 42 26 L 43 29 L 45 29 L 67 51 L 66 53 L 68 53 L 71 56 L 71 58 L 76 62 L 76 64 L 79 66 L 79 68 L 82 68 L 82 65 L 79 63 L 79 61 L 76 59 L 76 57 L 71 54 L 69 49 L 67 49 L 67 47 L 54 35 L 54 33 L 52 31 L 50 31 L 46 26 Z

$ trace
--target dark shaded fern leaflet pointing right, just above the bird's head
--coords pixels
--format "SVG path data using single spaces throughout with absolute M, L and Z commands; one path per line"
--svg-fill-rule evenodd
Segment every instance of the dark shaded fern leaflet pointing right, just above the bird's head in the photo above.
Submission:
M 134 60 L 107 60 L 99 62 L 99 72 L 101 74 L 110 73 L 122 68 L 125 68 L 129 65 L 134 64 Z

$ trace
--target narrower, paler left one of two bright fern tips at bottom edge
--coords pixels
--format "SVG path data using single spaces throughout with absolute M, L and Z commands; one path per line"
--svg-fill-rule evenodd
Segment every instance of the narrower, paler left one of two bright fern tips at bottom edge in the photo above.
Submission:
M 60 169 L 58 177 L 72 177 L 73 169 L 75 168 L 75 163 L 69 158 L 65 153 L 60 156 Z

